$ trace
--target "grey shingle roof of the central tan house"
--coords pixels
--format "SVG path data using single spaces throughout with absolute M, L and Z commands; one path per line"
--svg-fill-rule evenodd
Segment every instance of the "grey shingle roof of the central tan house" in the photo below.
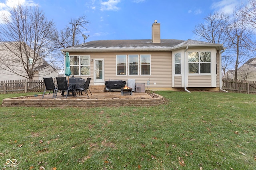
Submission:
M 76 45 L 61 51 L 170 51 L 186 46 L 216 46 L 223 49 L 220 44 L 206 43 L 195 40 L 161 39 L 161 43 L 152 43 L 151 39 L 139 40 L 98 40 L 89 41 L 85 45 Z

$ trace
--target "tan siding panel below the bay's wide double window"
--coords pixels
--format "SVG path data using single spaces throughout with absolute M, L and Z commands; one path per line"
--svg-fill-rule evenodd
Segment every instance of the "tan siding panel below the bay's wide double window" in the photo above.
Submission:
M 189 75 L 188 87 L 211 87 L 211 75 Z

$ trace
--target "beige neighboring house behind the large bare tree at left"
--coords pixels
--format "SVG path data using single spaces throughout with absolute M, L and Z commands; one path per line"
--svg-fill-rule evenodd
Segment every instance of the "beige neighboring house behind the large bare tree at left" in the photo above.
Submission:
M 9 49 L 3 44 L 3 42 L 0 43 L 0 51 L 2 54 L 0 56 L 0 63 L 1 62 L 7 63 L 6 65 L 3 63 L 0 65 L 0 72 L 1 72 L 0 81 L 26 79 L 24 76 L 27 76 L 27 73 L 23 68 L 23 64 L 20 61 L 21 60 L 20 57 L 17 57 L 20 51 L 14 48 L 14 43 L 16 42 L 5 42 L 5 44 L 8 45 Z M 13 52 L 10 52 L 10 50 L 12 50 L 16 54 L 14 55 Z M 28 61 L 28 63 L 30 62 L 31 61 Z M 16 73 L 11 72 L 10 68 L 15 70 Z M 38 64 L 36 64 L 36 67 L 34 69 L 38 71 L 36 71 L 36 74 L 34 75 L 33 80 L 43 80 L 43 77 L 55 78 L 58 76 L 58 70 L 50 66 L 50 64 L 48 64 L 46 61 L 42 59 L 40 60 L 40 62 L 38 62 Z

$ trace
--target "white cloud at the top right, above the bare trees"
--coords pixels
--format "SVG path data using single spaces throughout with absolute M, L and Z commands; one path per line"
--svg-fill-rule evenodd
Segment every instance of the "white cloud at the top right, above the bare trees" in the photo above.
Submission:
M 240 5 L 241 0 L 218 0 L 212 4 L 212 9 L 232 14 L 236 6 Z

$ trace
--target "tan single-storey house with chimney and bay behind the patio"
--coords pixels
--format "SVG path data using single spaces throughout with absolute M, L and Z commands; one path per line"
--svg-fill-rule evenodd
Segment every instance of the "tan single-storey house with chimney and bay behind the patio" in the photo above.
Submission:
M 135 79 L 150 90 L 221 88 L 222 44 L 188 39 L 160 39 L 160 23 L 152 24 L 152 39 L 100 40 L 62 49 L 69 52 L 74 76 L 91 84 Z M 64 64 L 65 65 L 65 64 Z

